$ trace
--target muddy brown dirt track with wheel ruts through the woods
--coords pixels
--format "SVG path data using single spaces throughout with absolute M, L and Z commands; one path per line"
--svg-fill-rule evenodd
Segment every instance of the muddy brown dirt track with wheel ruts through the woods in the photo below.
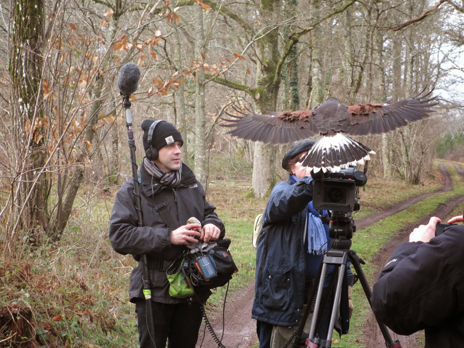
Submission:
M 464 172 L 456 166 L 458 173 L 464 177 Z M 453 189 L 453 183 L 451 180 L 450 174 L 446 171 L 445 166 L 440 164 L 440 171 L 445 177 L 445 182 L 440 191 L 450 191 Z M 436 192 L 435 192 L 436 193 Z M 380 213 L 374 214 L 374 216 L 368 216 L 367 218 L 360 219 L 356 221 L 356 227 L 358 230 L 366 228 L 367 226 L 383 219 L 387 216 L 398 213 L 413 204 L 424 200 L 426 197 L 432 195 L 433 193 L 425 193 L 415 197 L 410 198 L 400 204 L 397 204 L 389 209 L 386 209 Z M 455 206 L 459 205 L 464 201 L 464 195 L 460 195 L 447 202 L 446 205 L 440 205 L 432 213 L 434 216 L 445 216 L 454 209 Z M 429 217 L 424 217 L 419 224 L 426 224 L 429 220 Z M 393 249 L 400 244 L 400 242 L 407 241 L 409 233 L 418 223 L 411 224 L 411 226 L 405 226 L 405 228 L 400 231 L 394 240 L 387 243 L 379 252 L 377 257 L 373 258 L 376 260 L 374 266 L 376 267 L 376 274 L 380 272 L 383 265 L 387 263 L 389 256 L 391 255 Z M 360 286 L 360 291 L 362 291 Z M 256 335 L 256 322 L 251 319 L 251 305 L 253 303 L 254 297 L 254 283 L 249 284 L 244 289 L 240 290 L 239 293 L 233 294 L 227 298 L 226 309 L 224 317 L 226 318 L 225 331 L 222 339 L 223 344 L 227 348 L 246 348 L 258 344 L 258 338 Z M 217 309 L 217 311 L 210 316 L 209 318 L 216 334 L 221 336 L 222 325 L 223 325 L 223 313 L 222 309 Z M 201 327 L 199 340 L 197 348 L 215 348 L 218 345 L 214 342 L 213 338 L 206 329 L 206 333 L 203 338 L 203 329 L 204 325 Z M 411 336 L 399 336 L 390 331 L 393 340 L 399 339 L 403 347 L 407 348 L 419 348 L 418 337 L 420 334 L 415 334 Z M 364 330 L 363 337 L 364 346 L 366 348 L 375 348 L 375 347 L 385 347 L 385 340 L 380 332 L 379 326 L 375 321 L 374 315 L 371 312 L 371 317 L 366 322 L 366 329 Z

